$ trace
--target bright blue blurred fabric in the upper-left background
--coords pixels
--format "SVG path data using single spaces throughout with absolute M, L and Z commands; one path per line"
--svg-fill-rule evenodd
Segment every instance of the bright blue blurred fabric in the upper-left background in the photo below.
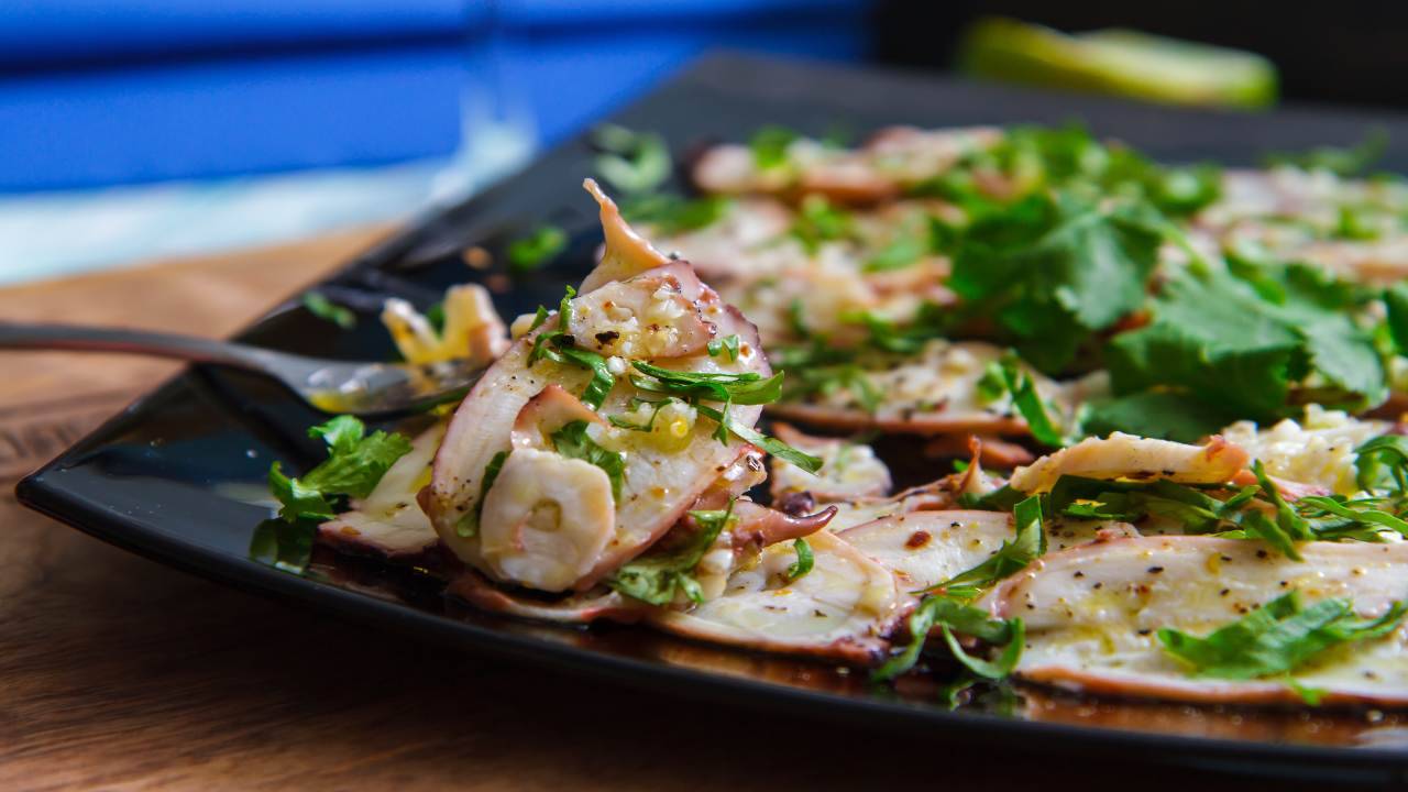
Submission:
M 0 192 L 542 142 L 714 47 L 857 59 L 866 0 L 0 0 Z

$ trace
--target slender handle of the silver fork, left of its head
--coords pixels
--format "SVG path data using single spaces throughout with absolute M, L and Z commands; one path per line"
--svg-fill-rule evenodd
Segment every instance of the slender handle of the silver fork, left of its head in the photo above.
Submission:
M 176 358 L 203 364 L 224 364 L 266 371 L 276 352 L 193 335 L 86 327 L 77 324 L 27 324 L 0 321 L 0 349 L 68 349 L 76 352 L 124 352 Z

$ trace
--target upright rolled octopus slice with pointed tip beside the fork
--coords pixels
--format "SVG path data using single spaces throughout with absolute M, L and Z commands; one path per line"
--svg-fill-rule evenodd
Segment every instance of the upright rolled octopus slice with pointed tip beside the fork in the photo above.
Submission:
M 612 221 L 620 223 L 620 217 L 603 206 L 603 217 L 607 218 L 608 214 Z M 624 224 L 608 228 L 607 241 L 601 268 L 614 266 L 628 272 L 629 268 L 622 268 L 620 262 L 639 256 L 625 256 L 617 247 L 643 242 L 629 234 Z M 587 282 L 591 280 L 589 276 Z M 700 283 L 684 262 L 667 262 L 620 282 L 608 280 L 597 290 L 577 296 L 572 300 L 572 307 L 573 338 L 580 338 L 579 345 L 590 349 L 593 342 L 598 342 L 603 345 L 603 355 L 612 355 L 611 359 L 618 361 L 620 375 L 598 410 L 604 416 L 631 412 L 629 400 L 639 393 L 628 376 L 624 376 L 628 372 L 627 361 L 614 357 L 615 354 L 636 359 L 649 355 L 659 365 L 681 372 L 772 373 L 753 326 Z M 638 311 L 648 310 L 656 313 L 649 317 L 636 316 Z M 711 337 L 741 338 L 736 359 L 727 355 L 710 357 L 707 349 L 698 348 L 703 347 L 700 328 L 705 324 Z M 490 578 L 541 590 L 570 588 L 582 592 L 660 538 L 719 472 L 735 461 L 739 447 L 736 441 L 724 444 L 714 438 L 714 421 L 707 419 L 683 424 L 681 434 L 670 444 L 655 443 L 650 433 L 607 427 L 608 431 L 594 440 L 611 451 L 624 452 L 625 471 L 620 497 L 610 516 L 611 536 L 600 548 L 596 531 L 607 517 L 604 505 L 598 505 L 600 499 L 589 499 L 580 493 L 583 488 L 591 492 L 600 489 L 600 481 L 589 481 L 596 479 L 596 474 L 582 466 L 587 462 L 566 459 L 546 450 L 514 451 L 504 461 L 500 474 L 504 481 L 496 481 L 489 488 L 482 509 L 493 506 L 494 514 L 521 520 L 522 526 L 532 528 L 529 538 L 535 541 L 515 538 L 515 531 L 521 528 L 513 526 L 466 531 L 472 536 L 460 536 L 460 521 L 479 506 L 490 461 L 497 454 L 510 451 L 511 427 L 529 400 L 549 385 L 579 393 L 590 376 L 584 369 L 548 359 L 528 365 L 536 337 L 555 327 L 556 314 L 536 331 L 518 338 L 470 390 L 456 410 L 445 443 L 435 457 L 434 475 L 422 502 L 444 544 Z M 750 427 L 759 412 L 760 407 L 756 406 L 734 406 L 729 414 L 734 423 Z M 580 465 L 570 465 L 572 462 Z M 582 486 L 569 485 L 566 479 Z M 552 488 L 556 489 L 548 492 Z M 562 499 L 569 492 L 577 493 L 569 500 L 573 506 L 580 506 L 580 510 L 563 507 Z M 539 502 L 552 503 L 539 509 Z M 522 509 L 525 503 L 527 512 Z M 483 517 L 489 519 L 490 514 Z M 556 534 L 572 534 L 572 541 L 563 544 L 563 537 Z M 486 557 L 486 537 L 493 540 L 493 558 Z M 536 541 L 538 538 L 542 541 Z M 577 557 L 558 559 L 552 569 L 511 558 L 515 547 L 534 552 L 559 545 L 569 547 Z

